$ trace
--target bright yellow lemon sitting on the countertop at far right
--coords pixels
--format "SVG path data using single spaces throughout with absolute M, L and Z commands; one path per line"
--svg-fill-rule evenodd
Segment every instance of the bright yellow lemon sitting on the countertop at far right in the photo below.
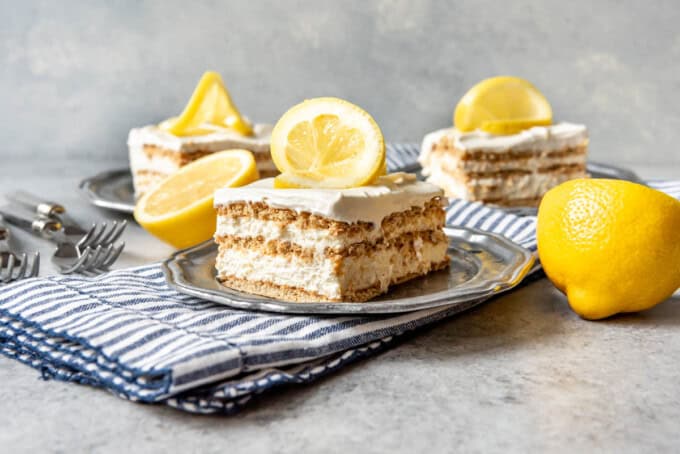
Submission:
M 680 287 L 680 202 L 643 185 L 578 179 L 543 197 L 538 255 L 583 318 L 637 312 Z

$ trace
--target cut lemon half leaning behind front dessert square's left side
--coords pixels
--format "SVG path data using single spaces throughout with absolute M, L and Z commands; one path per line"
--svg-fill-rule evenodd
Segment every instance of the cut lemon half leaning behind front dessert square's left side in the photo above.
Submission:
M 135 219 L 176 248 L 193 246 L 215 233 L 215 190 L 243 186 L 258 177 L 255 158 L 248 150 L 210 154 L 144 194 L 135 207 Z

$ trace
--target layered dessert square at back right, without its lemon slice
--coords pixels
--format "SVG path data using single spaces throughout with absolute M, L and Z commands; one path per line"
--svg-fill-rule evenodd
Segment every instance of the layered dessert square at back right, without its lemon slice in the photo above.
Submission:
M 419 162 L 447 196 L 500 206 L 537 206 L 549 189 L 587 176 L 588 131 L 558 123 L 511 135 L 456 128 L 425 136 Z

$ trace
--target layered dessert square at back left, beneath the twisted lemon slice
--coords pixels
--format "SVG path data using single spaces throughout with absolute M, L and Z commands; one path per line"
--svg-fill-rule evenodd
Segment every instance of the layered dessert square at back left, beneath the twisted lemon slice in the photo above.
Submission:
M 226 128 L 216 128 L 210 134 L 176 136 L 156 125 L 134 128 L 128 136 L 128 147 L 135 195 L 140 197 L 196 159 L 233 148 L 253 153 L 260 177 L 275 176 L 278 171 L 269 153 L 271 130 L 271 125 L 256 124 L 252 136 Z

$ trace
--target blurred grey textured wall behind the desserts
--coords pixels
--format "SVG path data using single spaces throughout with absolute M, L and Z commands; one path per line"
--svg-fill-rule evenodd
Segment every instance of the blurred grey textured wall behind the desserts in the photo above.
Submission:
M 122 162 L 212 68 L 255 120 L 333 95 L 409 141 L 515 74 L 589 126 L 593 158 L 680 167 L 680 2 L 652 3 L 0 0 L 0 156 Z

